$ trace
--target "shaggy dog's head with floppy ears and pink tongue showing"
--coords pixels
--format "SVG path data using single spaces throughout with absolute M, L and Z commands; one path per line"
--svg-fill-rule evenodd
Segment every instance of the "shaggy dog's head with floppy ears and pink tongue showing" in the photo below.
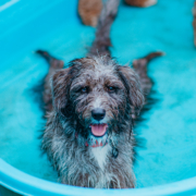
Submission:
M 53 108 L 84 137 L 121 132 L 144 102 L 137 75 L 108 57 L 83 58 L 52 78 Z M 127 127 L 126 127 L 127 128 Z

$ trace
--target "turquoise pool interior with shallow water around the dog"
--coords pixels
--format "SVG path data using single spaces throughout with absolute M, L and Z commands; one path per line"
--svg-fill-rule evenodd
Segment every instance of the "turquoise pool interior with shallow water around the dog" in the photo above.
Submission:
M 194 0 L 158 1 L 148 9 L 121 4 L 111 32 L 112 54 L 122 64 L 150 51 L 166 52 L 149 65 L 159 102 L 136 128 L 146 139 L 134 167 L 137 187 L 196 175 Z M 54 182 L 56 172 L 40 156 L 42 112 L 30 94 L 48 65 L 34 51 L 46 49 L 65 62 L 85 56 L 95 29 L 81 24 L 76 5 L 76 0 L 20 0 L 0 12 L 0 158 Z

